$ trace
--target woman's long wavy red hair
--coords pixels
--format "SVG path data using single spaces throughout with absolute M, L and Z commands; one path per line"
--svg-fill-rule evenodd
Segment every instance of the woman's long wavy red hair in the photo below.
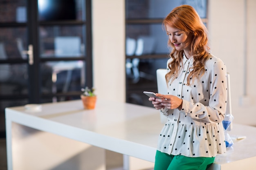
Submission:
M 205 71 L 204 65 L 209 55 L 207 28 L 195 9 L 189 5 L 181 5 L 174 8 L 164 19 L 163 25 L 165 29 L 166 25 L 168 25 L 184 31 L 187 35 L 192 35 L 190 54 L 193 55 L 194 62 L 187 78 L 187 84 L 189 85 L 190 79 L 194 81 L 195 78 L 202 76 Z M 170 79 L 173 81 L 173 78 L 179 74 L 184 54 L 183 50 L 177 51 L 175 49 L 170 39 L 168 40 L 168 46 L 172 48 L 170 57 L 173 60 L 168 64 L 170 72 L 166 74 L 166 82 L 169 82 Z

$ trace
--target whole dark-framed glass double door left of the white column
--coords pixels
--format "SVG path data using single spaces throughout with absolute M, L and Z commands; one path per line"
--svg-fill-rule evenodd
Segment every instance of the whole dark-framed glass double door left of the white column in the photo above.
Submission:
M 0 137 L 4 108 L 79 99 L 92 87 L 90 0 L 0 0 Z

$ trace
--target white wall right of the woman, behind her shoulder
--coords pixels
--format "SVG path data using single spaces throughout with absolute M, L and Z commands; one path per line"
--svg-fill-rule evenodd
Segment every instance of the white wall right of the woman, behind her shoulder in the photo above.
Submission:
M 256 45 L 255 9 L 255 0 L 209 0 L 211 53 L 225 62 L 230 73 L 234 122 L 254 126 L 256 126 L 256 76 L 254 75 L 256 58 L 253 53 Z M 245 30 L 247 30 L 247 40 Z M 245 79 L 246 73 L 247 79 Z

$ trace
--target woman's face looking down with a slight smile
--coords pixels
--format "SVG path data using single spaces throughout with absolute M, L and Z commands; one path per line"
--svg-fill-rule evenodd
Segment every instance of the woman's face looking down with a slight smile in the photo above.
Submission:
M 168 25 L 166 26 L 166 31 L 175 49 L 177 51 L 184 50 L 186 57 L 190 58 L 189 52 L 191 50 L 192 35 Z

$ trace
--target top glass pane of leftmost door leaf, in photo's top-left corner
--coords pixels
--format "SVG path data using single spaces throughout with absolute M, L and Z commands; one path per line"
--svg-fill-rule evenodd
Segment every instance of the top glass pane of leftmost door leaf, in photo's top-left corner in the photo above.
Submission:
M 26 0 L 0 0 L 0 22 L 27 22 Z

